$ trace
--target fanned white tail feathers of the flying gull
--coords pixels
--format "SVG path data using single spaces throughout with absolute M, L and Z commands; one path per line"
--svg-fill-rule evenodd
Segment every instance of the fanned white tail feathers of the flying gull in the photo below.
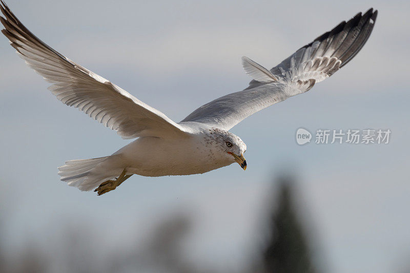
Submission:
M 67 161 L 66 165 L 58 167 L 60 180 L 67 182 L 69 186 L 78 187 L 81 191 L 91 191 L 104 182 L 103 180 L 112 178 L 111 175 L 107 177 L 104 174 L 93 172 L 95 167 L 110 157 Z

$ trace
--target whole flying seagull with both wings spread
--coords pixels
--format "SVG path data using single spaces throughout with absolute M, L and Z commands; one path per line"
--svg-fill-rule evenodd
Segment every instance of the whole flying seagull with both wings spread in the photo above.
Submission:
M 180 122 L 61 55 L 31 33 L 0 0 L 3 34 L 26 64 L 52 85 L 58 100 L 83 111 L 124 139 L 135 139 L 110 156 L 70 160 L 58 167 L 61 180 L 102 195 L 133 174 L 158 177 L 203 174 L 237 162 L 243 170 L 247 145 L 229 130 L 244 118 L 302 94 L 330 77 L 364 46 L 377 10 L 356 14 L 268 70 L 242 57 L 253 78 L 239 92 L 217 98 Z

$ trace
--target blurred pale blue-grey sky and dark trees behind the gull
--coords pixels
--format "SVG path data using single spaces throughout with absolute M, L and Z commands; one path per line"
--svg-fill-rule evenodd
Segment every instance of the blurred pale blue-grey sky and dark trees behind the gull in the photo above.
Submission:
M 70 159 L 129 140 L 57 101 L 0 38 L 0 272 L 410 272 L 408 1 L 7 1 L 35 35 L 179 121 L 248 87 L 373 7 L 362 51 L 310 92 L 245 119 L 237 164 L 133 176 L 97 197 Z M 299 146 L 295 132 L 390 129 L 388 144 Z

